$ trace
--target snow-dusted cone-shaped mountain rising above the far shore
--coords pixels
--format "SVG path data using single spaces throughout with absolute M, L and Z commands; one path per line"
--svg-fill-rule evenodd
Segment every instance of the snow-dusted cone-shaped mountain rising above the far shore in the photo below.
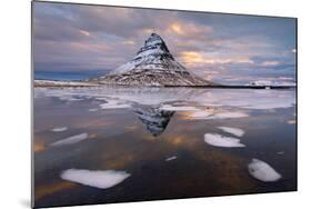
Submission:
M 179 63 L 162 38 L 155 33 L 145 40 L 132 60 L 93 81 L 101 84 L 150 87 L 213 84 Z

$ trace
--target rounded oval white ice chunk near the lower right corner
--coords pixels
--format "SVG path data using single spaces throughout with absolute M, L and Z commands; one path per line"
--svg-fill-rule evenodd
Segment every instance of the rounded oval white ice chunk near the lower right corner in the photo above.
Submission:
M 278 181 L 282 178 L 270 165 L 258 159 L 252 159 L 248 170 L 253 178 L 264 182 Z

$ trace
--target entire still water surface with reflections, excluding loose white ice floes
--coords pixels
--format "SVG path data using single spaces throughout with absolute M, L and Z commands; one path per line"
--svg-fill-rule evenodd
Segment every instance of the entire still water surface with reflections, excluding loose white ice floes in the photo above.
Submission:
M 294 93 L 36 89 L 36 207 L 296 190 Z M 210 115 L 202 117 L 204 112 Z M 54 127 L 68 130 L 53 132 Z M 207 143 L 205 133 L 234 137 L 218 127 L 243 130 L 235 138 L 245 147 Z M 79 133 L 88 133 L 88 139 L 52 146 Z M 170 157 L 177 159 L 167 161 Z M 264 182 L 252 177 L 248 165 L 253 158 L 282 178 Z M 130 177 L 101 189 L 63 180 L 68 169 L 125 171 Z

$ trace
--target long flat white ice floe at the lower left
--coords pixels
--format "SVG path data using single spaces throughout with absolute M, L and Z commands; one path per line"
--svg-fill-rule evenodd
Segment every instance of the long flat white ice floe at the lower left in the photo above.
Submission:
M 115 170 L 82 170 L 82 169 L 68 169 L 61 173 L 63 180 L 95 187 L 100 189 L 111 188 L 131 175 L 125 171 Z

